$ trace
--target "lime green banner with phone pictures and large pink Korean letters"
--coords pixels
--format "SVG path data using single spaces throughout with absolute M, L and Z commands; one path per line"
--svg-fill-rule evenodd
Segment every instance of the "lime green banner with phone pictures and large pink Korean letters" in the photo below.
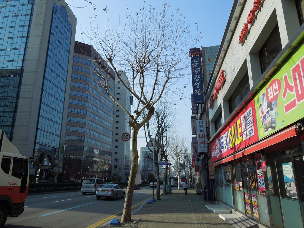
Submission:
M 304 45 L 254 97 L 259 139 L 304 117 Z

